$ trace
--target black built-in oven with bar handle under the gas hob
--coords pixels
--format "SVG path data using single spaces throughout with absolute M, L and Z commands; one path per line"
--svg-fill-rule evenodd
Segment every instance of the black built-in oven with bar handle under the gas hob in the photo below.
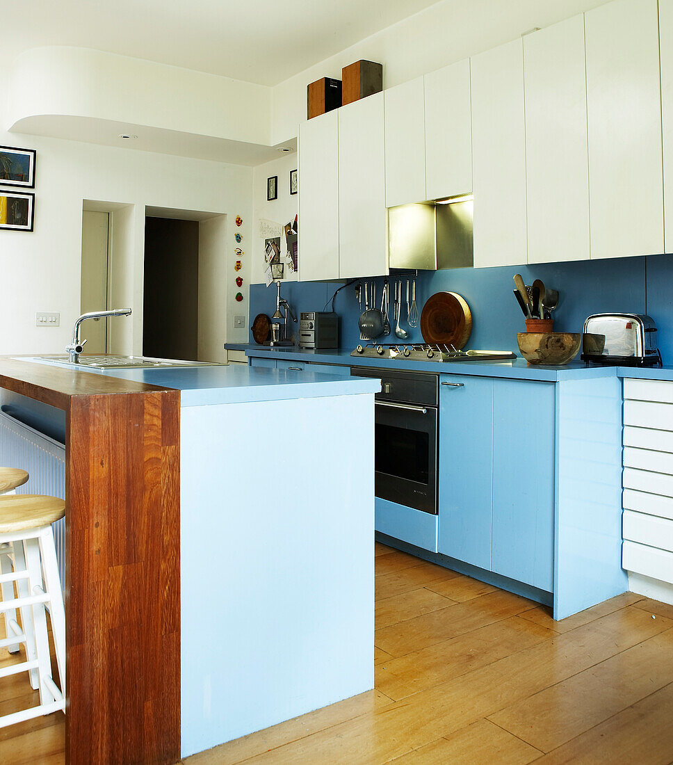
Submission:
M 376 496 L 437 514 L 438 376 L 352 367 L 381 379 L 375 396 Z

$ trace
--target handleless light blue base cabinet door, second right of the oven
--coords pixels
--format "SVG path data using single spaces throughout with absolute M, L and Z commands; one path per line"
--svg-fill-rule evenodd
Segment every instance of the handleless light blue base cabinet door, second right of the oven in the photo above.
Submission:
M 555 386 L 493 382 L 491 570 L 554 590 Z

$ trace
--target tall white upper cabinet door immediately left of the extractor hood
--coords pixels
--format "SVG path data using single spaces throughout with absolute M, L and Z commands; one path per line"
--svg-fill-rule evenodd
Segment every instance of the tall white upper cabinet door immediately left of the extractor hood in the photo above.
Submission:
M 339 276 L 387 274 L 383 93 L 337 112 Z

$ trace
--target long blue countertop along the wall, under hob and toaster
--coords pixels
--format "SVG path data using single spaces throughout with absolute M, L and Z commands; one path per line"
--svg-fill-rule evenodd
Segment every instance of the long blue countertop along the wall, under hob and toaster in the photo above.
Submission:
M 402 364 L 387 359 L 363 358 L 351 356 L 351 349 L 307 350 L 297 347 L 268 347 L 255 343 L 225 343 L 227 350 L 243 350 L 247 356 L 266 356 L 288 361 L 307 363 L 340 364 L 343 366 L 369 366 L 383 369 L 402 369 Z M 529 364 L 525 359 L 512 361 L 405 361 L 404 369 L 418 372 L 435 372 L 452 375 L 471 375 L 480 377 L 507 377 L 510 379 L 530 379 L 548 382 L 561 382 L 574 379 L 595 379 L 601 377 L 638 377 L 643 379 L 673 380 L 673 366 L 662 369 L 639 369 L 631 366 L 587 366 L 584 362 L 573 362 L 564 366 L 541 366 Z

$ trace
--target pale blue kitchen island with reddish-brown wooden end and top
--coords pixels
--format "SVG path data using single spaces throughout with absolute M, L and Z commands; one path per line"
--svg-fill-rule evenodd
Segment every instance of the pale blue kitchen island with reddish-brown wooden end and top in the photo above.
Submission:
M 172 763 L 372 688 L 378 386 L 0 360 L 3 402 L 64 413 L 68 762 Z

